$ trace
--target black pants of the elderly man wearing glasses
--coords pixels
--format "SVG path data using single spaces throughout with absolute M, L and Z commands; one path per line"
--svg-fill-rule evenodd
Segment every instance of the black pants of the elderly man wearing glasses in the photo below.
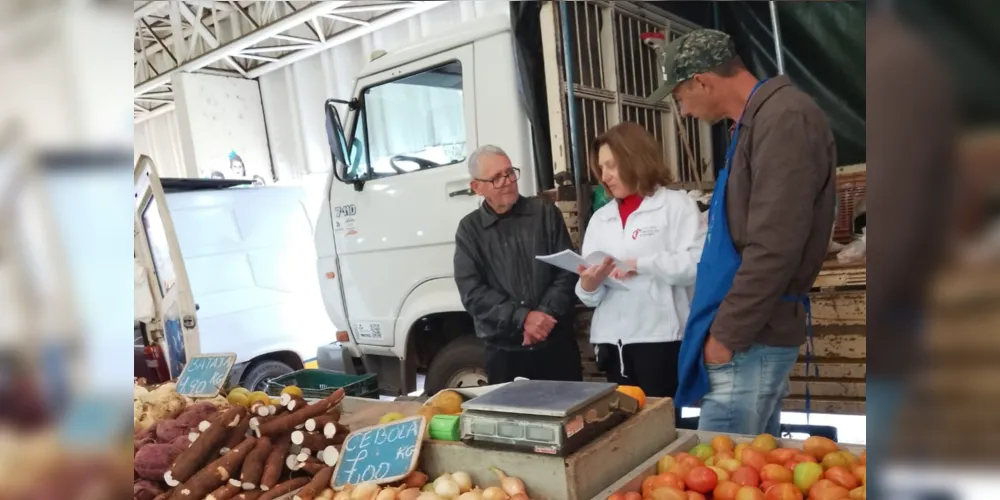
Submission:
M 486 346 L 486 377 L 490 384 L 510 382 L 515 377 L 530 380 L 583 380 L 580 347 L 570 335 L 552 339 L 532 350 L 506 351 Z

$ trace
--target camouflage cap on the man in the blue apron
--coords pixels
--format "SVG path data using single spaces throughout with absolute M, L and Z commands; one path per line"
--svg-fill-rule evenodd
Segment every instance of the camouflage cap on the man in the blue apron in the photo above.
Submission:
M 650 103 L 662 101 L 677 85 L 694 75 L 712 71 L 736 57 L 736 47 L 729 35 L 702 29 L 670 42 L 661 57 L 664 82 L 650 96 Z

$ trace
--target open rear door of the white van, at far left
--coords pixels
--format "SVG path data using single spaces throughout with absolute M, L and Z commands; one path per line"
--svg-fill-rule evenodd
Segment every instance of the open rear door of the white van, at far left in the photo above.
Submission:
M 197 307 L 153 160 L 140 156 L 134 174 L 136 217 L 148 245 L 136 252 L 148 252 L 148 261 L 153 264 L 152 288 L 159 297 L 157 315 L 163 325 L 164 354 L 170 376 L 177 377 L 188 358 L 201 353 Z

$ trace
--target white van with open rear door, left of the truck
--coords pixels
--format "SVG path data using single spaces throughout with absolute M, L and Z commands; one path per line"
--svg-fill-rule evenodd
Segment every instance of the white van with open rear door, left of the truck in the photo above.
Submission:
M 173 377 L 191 356 L 231 352 L 230 383 L 260 388 L 335 340 L 304 191 L 250 184 L 159 179 L 146 157 L 136 166 L 136 254 L 156 311 L 146 330 Z

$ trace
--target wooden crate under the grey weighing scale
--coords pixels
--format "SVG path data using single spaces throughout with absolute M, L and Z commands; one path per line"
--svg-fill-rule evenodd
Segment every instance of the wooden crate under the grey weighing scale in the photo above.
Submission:
M 495 466 L 524 480 L 536 500 L 592 498 L 675 439 L 673 401 L 649 399 L 637 415 L 565 458 L 430 441 L 421 451 L 420 468 L 432 478 L 466 471 L 486 488 L 499 484 L 489 471 Z

